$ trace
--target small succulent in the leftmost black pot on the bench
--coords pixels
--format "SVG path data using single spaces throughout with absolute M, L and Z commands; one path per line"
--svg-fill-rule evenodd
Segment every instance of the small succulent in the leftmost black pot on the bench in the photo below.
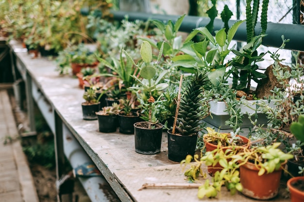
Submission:
M 84 92 L 83 98 L 85 102 L 83 102 L 81 106 L 84 120 L 96 120 L 97 116 L 95 112 L 99 111 L 99 102 L 95 90 L 91 88 L 88 89 Z

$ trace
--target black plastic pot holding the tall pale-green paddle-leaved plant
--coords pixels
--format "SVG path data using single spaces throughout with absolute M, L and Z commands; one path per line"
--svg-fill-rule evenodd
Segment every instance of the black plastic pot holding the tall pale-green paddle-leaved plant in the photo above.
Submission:
M 135 127 L 135 152 L 143 155 L 160 153 L 163 124 L 156 124 L 155 128 L 148 129 L 148 122 L 137 122 Z

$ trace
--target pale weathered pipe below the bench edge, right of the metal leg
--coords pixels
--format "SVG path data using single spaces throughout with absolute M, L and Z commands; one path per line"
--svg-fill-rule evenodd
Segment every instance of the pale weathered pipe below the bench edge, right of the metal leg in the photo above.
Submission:
M 94 164 L 65 124 L 63 124 L 63 144 L 64 154 L 73 169 L 89 162 Z M 102 175 L 86 178 L 79 177 L 78 179 L 92 202 L 120 202 Z

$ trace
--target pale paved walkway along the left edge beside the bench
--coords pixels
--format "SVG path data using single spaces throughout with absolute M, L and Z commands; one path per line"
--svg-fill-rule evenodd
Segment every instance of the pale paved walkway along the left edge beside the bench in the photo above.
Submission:
M 8 93 L 0 90 L 0 202 L 39 202 L 18 137 Z

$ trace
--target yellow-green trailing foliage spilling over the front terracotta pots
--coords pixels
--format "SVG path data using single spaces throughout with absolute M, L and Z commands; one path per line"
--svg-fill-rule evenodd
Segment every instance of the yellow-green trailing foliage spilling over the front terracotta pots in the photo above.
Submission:
M 217 171 L 211 182 L 205 180 L 205 183 L 199 187 L 198 198 L 204 197 L 213 198 L 218 195 L 222 186 L 226 186 L 232 195 L 237 191 L 242 191 L 242 185 L 239 178 L 239 167 L 252 162 L 259 169 L 258 175 L 277 171 L 282 167 L 282 163 L 287 159 L 293 158 L 293 155 L 286 154 L 278 147 L 280 142 L 274 143 L 267 147 L 245 148 L 242 146 L 226 146 L 206 152 L 200 160 L 195 160 L 190 169 L 185 172 L 185 175 L 190 181 L 196 181 L 199 174 L 202 175 L 201 165 L 216 165 L 217 163 L 223 167 L 221 171 Z M 197 158 L 196 156 L 195 158 Z M 187 156 L 181 164 L 188 165 L 192 160 L 191 156 Z M 191 174 L 189 174 L 191 173 Z M 195 174 L 194 174 L 195 173 Z M 205 174 L 203 173 L 203 177 Z

